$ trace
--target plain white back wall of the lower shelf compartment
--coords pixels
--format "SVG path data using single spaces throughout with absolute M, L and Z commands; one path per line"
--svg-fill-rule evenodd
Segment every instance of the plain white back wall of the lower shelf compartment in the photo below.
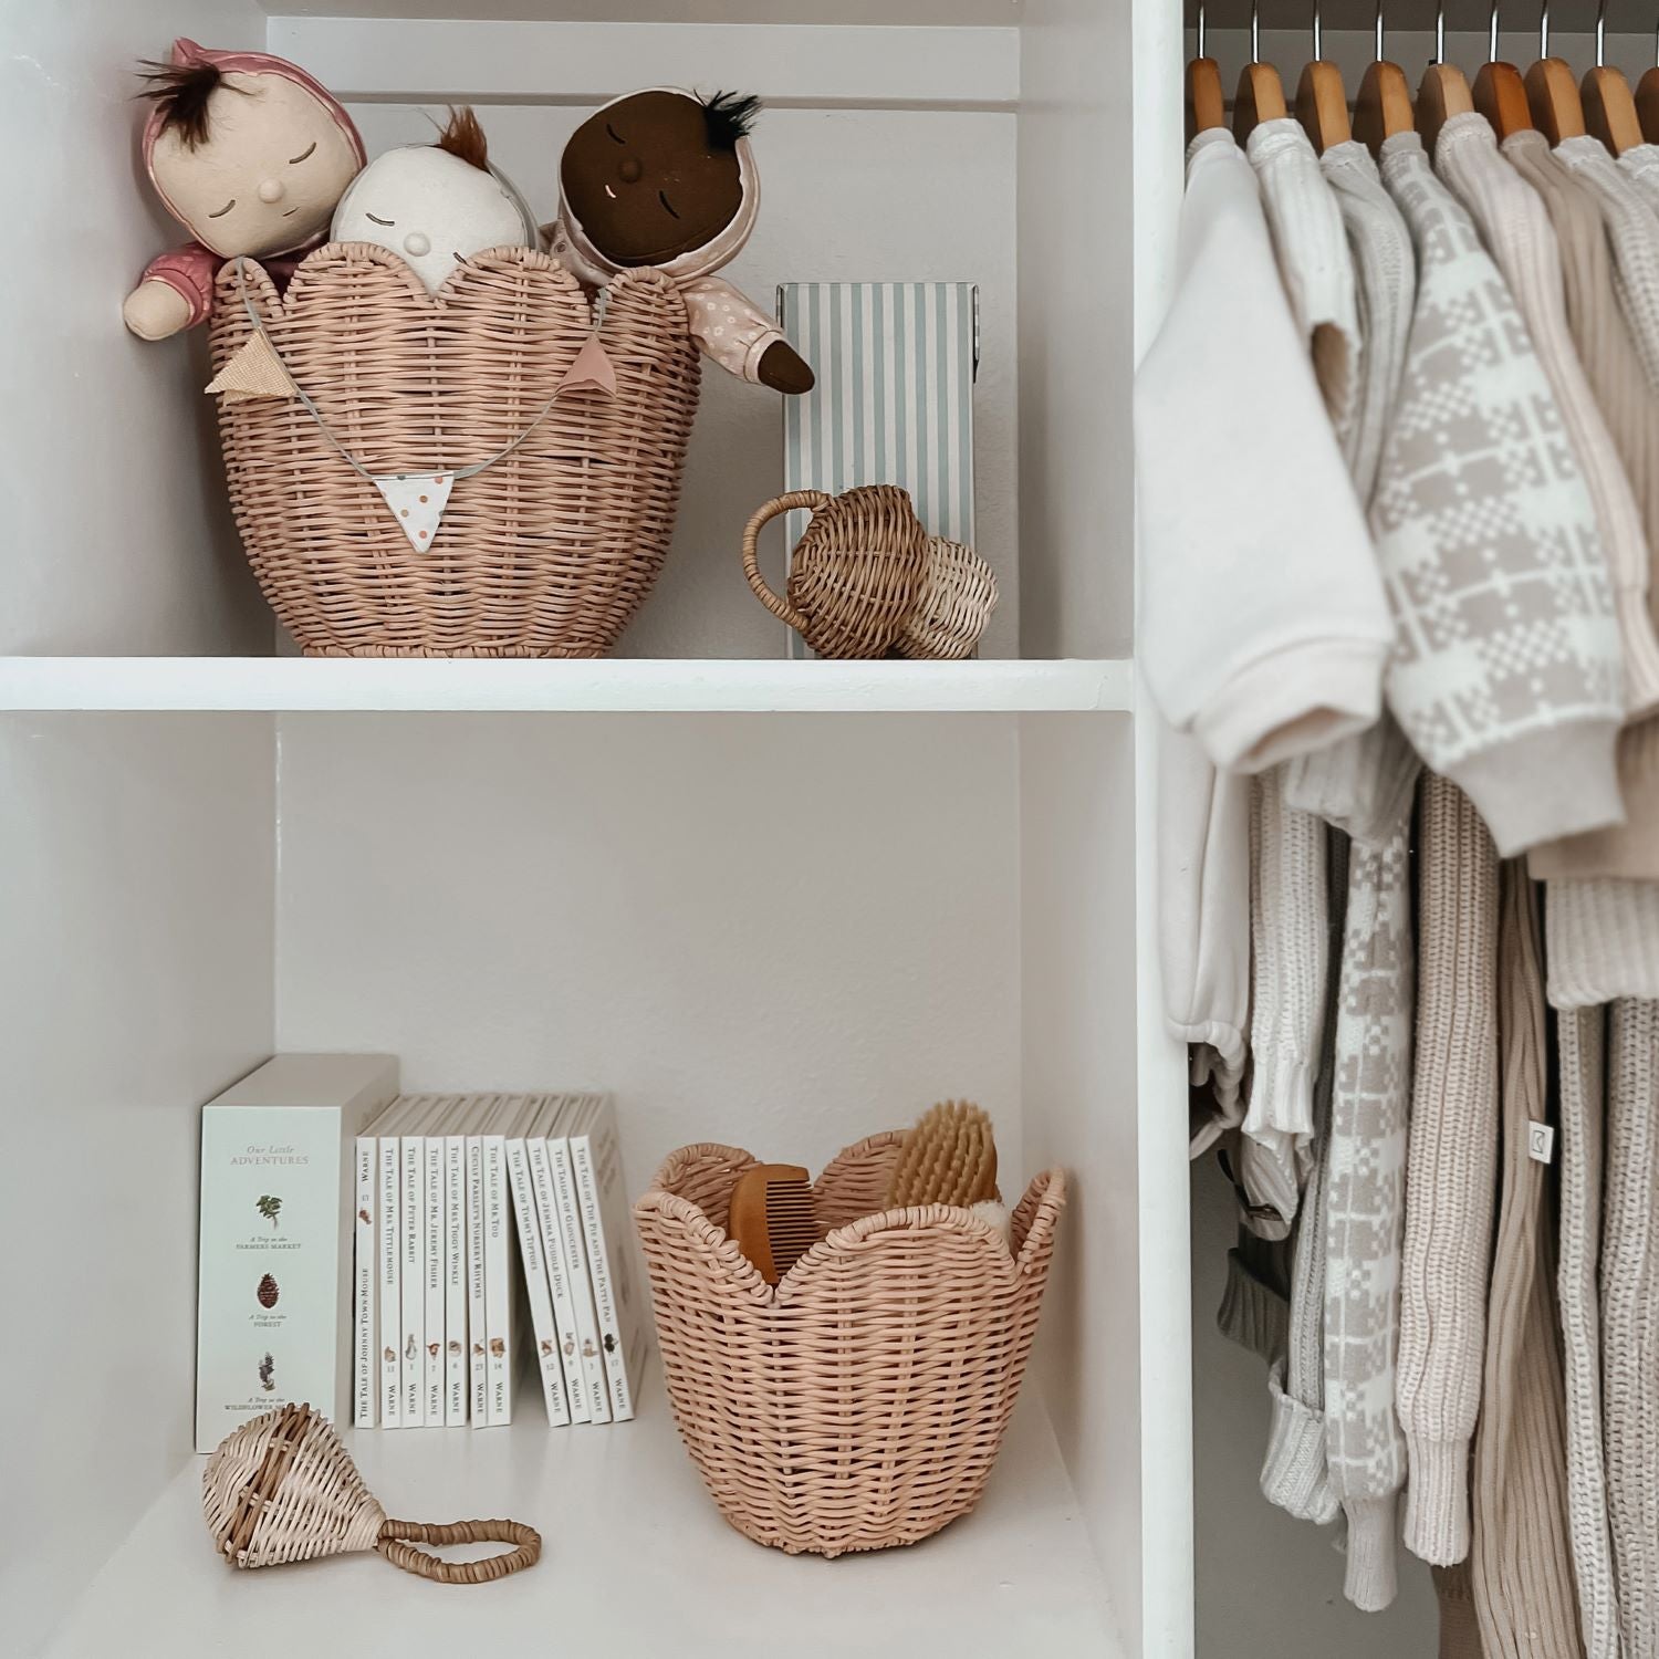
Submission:
M 284 717 L 277 1042 L 606 1087 L 629 1183 L 966 1095 L 1019 1151 L 1010 717 Z

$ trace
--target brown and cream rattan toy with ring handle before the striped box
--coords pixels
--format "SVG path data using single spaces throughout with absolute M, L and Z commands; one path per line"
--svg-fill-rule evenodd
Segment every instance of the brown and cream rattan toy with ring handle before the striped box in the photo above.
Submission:
M 760 574 L 760 533 L 800 508 L 813 516 L 780 599 Z M 743 574 L 820 657 L 969 657 L 997 604 L 990 566 L 972 547 L 929 536 L 898 484 L 775 496 L 743 529 Z

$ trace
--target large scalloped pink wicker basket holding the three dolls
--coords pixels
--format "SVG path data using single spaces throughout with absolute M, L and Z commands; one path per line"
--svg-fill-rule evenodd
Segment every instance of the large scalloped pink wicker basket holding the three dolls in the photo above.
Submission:
M 279 297 L 247 294 L 289 373 L 370 473 L 456 471 L 536 418 L 594 310 L 533 249 L 466 260 L 436 295 L 362 242 L 309 255 Z M 214 368 L 252 322 L 219 274 Z M 599 338 L 615 397 L 562 393 L 511 455 L 458 478 L 430 551 L 297 398 L 221 400 L 231 506 L 259 584 L 310 655 L 596 657 L 650 591 L 674 534 L 700 367 L 660 272 L 611 284 Z

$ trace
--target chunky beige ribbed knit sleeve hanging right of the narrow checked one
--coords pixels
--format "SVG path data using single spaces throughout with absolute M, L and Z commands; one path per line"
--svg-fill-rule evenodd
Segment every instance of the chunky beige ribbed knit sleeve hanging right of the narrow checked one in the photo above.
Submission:
M 1417 1065 L 1405 1163 L 1399 1413 L 1405 1545 L 1468 1554 L 1498 1166 L 1498 854 L 1468 796 L 1425 775 L 1418 826 Z

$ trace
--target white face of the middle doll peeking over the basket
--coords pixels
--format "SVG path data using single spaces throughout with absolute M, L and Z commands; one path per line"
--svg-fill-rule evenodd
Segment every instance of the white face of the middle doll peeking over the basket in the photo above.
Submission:
M 428 292 L 460 260 L 488 247 L 523 247 L 533 227 L 493 173 L 428 144 L 388 149 L 352 181 L 333 216 L 337 242 L 401 254 Z

